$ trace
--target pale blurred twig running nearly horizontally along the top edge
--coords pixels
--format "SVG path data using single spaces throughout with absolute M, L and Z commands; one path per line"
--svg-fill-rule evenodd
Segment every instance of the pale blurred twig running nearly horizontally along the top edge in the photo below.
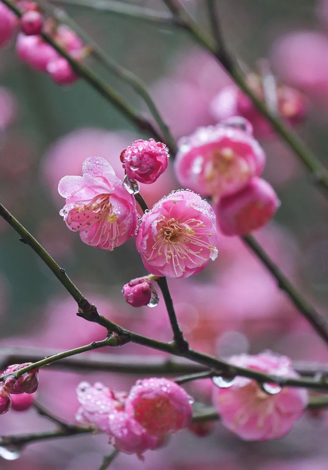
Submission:
M 91 8 L 99 10 L 101 13 L 111 13 L 126 18 L 145 21 L 155 26 L 180 27 L 184 28 L 183 22 L 179 18 L 152 8 L 140 7 L 117 0 L 53 0 L 61 5 L 71 5 L 76 7 Z

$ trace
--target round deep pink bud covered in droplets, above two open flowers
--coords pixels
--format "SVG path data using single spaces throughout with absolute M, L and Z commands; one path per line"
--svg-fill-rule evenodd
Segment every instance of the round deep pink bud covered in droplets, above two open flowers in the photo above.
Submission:
M 121 153 L 123 168 L 130 180 L 150 184 L 168 167 L 168 148 L 154 139 L 133 142 Z

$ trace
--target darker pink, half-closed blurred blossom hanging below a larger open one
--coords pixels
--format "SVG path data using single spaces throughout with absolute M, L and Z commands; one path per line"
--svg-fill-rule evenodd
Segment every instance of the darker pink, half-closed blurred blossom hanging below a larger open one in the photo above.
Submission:
M 216 216 L 224 235 L 248 235 L 264 227 L 279 207 L 274 189 L 261 178 L 252 178 L 246 188 L 222 197 Z

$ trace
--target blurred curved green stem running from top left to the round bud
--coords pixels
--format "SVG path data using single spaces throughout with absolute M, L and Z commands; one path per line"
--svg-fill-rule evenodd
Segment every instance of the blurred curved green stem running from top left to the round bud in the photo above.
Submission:
M 162 141 L 163 137 L 166 141 L 168 148 L 175 153 L 176 143 L 172 136 L 168 125 L 162 119 L 157 106 L 155 105 L 151 95 L 148 93 L 145 83 L 137 77 L 133 72 L 125 69 L 117 63 L 104 49 L 102 49 L 97 42 L 92 39 L 64 10 L 53 7 L 46 0 L 38 0 L 38 4 L 50 15 L 56 18 L 59 22 L 66 24 L 69 28 L 76 32 L 76 34 L 84 41 L 85 44 L 92 48 L 93 55 L 103 63 L 106 68 L 114 73 L 117 77 L 121 78 L 128 85 L 130 85 L 137 94 L 144 100 L 148 106 L 155 122 L 157 123 L 162 136 L 155 129 L 152 130 L 153 137 L 156 140 Z

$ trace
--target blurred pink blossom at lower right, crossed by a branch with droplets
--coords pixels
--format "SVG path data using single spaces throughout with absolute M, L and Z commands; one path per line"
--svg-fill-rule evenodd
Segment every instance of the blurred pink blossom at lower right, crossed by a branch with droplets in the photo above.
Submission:
M 275 376 L 298 377 L 288 357 L 271 352 L 232 356 L 229 362 Z M 304 414 L 308 392 L 296 387 L 281 389 L 275 384 L 267 384 L 266 390 L 270 392 L 262 390 L 257 382 L 239 376 L 226 388 L 215 386 L 213 403 L 222 424 L 244 440 L 263 441 L 285 436 Z

